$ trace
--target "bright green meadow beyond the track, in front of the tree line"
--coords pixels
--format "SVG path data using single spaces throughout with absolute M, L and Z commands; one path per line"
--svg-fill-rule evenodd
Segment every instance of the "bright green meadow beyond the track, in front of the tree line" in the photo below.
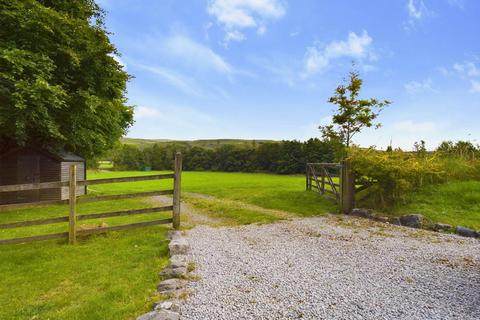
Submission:
M 90 172 L 89 178 L 151 175 L 161 172 L 103 171 Z M 90 188 L 96 194 L 141 192 L 171 188 L 171 181 L 119 183 Z M 305 177 L 261 173 L 183 172 L 182 192 L 199 193 L 219 199 L 235 200 L 262 208 L 291 212 L 298 216 L 315 216 L 336 212 L 334 203 L 313 192 L 305 192 Z M 198 202 L 198 201 L 197 201 Z M 256 222 L 256 221 L 251 221 Z

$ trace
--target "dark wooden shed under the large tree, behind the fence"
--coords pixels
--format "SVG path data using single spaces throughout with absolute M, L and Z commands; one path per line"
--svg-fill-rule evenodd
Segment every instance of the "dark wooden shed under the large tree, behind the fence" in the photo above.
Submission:
M 51 153 L 43 149 L 19 147 L 0 155 L 0 186 L 68 181 L 69 168 L 77 165 L 77 180 L 86 179 L 85 159 L 70 152 Z M 77 188 L 77 195 L 85 187 Z M 0 204 L 68 199 L 68 187 L 1 192 Z

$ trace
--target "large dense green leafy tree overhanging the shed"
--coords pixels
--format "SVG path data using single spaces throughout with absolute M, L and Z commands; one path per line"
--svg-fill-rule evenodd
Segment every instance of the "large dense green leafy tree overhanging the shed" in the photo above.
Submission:
M 0 0 L 0 152 L 111 148 L 133 123 L 116 54 L 93 0 Z

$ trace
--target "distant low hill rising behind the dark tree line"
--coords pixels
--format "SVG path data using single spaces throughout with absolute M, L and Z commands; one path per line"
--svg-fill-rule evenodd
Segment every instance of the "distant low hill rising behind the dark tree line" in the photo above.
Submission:
M 205 140 L 168 140 L 168 139 L 138 139 L 138 138 L 122 138 L 124 144 L 136 145 L 143 148 L 155 143 L 158 144 L 177 144 L 188 147 L 202 147 L 207 149 L 216 149 L 226 144 L 236 145 L 240 147 L 251 147 L 253 145 L 261 145 L 265 142 L 276 142 L 275 140 L 243 140 L 243 139 L 205 139 Z

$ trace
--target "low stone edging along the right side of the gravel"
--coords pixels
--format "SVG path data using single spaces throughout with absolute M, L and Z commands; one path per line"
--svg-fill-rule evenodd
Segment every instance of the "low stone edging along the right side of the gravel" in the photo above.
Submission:
M 417 213 L 406 214 L 400 217 L 384 217 L 369 209 L 355 208 L 352 210 L 350 215 L 398 226 L 433 230 L 436 232 L 455 232 L 457 235 L 463 237 L 480 238 L 480 230 L 475 231 L 462 226 L 457 226 L 454 228 L 451 225 L 444 223 L 431 223 L 428 222 L 423 215 Z

